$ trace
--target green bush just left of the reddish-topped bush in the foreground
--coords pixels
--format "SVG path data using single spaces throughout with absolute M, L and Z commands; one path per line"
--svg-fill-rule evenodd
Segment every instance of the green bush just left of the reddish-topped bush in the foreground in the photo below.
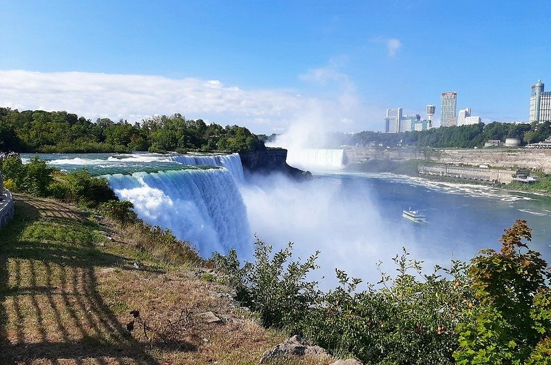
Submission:
M 436 267 L 424 275 L 422 262 L 408 255 L 404 249 L 394 258 L 396 278 L 381 273 L 380 290 L 369 284 L 357 291 L 362 280 L 337 270 L 340 286 L 318 298 L 302 331 L 366 364 L 453 364 L 453 328 L 469 298 L 466 265 L 456 261 L 452 269 Z

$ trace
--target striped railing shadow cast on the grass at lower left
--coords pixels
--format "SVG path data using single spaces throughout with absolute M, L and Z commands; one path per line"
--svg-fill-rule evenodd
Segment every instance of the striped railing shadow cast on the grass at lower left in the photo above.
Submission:
M 41 206 L 28 201 L 17 201 L 14 219 L 0 231 L 0 363 L 94 359 L 96 364 L 158 364 L 98 292 L 94 267 L 125 269 L 128 260 L 103 253 L 93 243 L 21 240 L 25 229 L 44 217 L 37 209 Z M 74 211 L 62 205 L 65 211 L 56 211 L 55 205 L 48 202 L 46 214 L 65 225 L 74 222 Z M 187 343 L 180 348 L 195 349 Z

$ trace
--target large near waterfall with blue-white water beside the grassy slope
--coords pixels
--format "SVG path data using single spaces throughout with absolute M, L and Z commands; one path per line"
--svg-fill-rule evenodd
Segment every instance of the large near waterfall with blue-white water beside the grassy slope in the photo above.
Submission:
M 194 244 L 202 257 L 232 248 L 248 257 L 252 240 L 247 209 L 234 180 L 243 174 L 239 155 L 194 156 L 186 162 L 189 156 L 172 158 L 187 165 L 220 164 L 226 169 L 135 172 L 105 178 L 118 198 L 134 204 L 139 218 L 171 229 L 180 240 Z

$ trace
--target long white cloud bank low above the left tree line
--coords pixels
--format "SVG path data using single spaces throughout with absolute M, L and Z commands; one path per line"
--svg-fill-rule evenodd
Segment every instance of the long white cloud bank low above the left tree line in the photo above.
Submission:
M 238 124 L 255 133 L 281 132 L 298 121 L 324 123 L 333 131 L 361 131 L 364 106 L 345 74 L 315 69 L 301 77 L 309 83 L 337 85 L 329 96 L 303 90 L 243 90 L 219 80 L 90 72 L 0 71 L 0 106 L 19 110 L 66 110 L 95 121 L 141 121 L 154 114 L 179 112 L 187 118 Z M 320 85 L 316 85 L 320 87 Z M 340 123 L 346 121 L 346 123 Z

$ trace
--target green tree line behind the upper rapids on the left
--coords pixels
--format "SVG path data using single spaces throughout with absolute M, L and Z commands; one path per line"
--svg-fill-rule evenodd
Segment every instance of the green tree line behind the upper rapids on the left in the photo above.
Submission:
M 152 116 L 134 124 L 76 114 L 0 107 L 0 151 L 97 152 L 251 152 L 264 142 L 238 125 L 207 125 L 181 114 Z

